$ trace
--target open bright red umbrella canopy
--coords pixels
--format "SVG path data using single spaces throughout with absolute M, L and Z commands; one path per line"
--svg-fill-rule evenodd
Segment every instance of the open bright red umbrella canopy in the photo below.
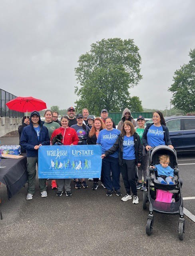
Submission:
M 46 103 L 33 97 L 17 97 L 6 103 L 9 109 L 19 112 L 31 112 L 47 108 Z

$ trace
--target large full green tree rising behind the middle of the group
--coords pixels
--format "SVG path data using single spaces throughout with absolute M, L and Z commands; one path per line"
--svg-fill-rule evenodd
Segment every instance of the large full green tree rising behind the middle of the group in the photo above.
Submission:
M 132 39 L 102 39 L 91 45 L 90 52 L 82 54 L 75 68 L 77 82 L 76 109 L 88 108 L 99 115 L 101 109 L 120 112 L 129 101 L 129 88 L 137 85 L 141 56 Z

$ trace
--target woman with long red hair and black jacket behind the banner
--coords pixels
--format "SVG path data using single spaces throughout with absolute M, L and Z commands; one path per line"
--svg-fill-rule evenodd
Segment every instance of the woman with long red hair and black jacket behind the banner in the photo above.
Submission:
M 105 124 L 103 123 L 101 118 L 97 117 L 94 120 L 94 124 L 93 124 L 93 126 L 92 126 L 92 128 L 90 130 L 90 133 L 88 135 L 88 138 L 87 138 L 88 145 L 96 145 L 99 132 L 101 130 L 103 130 L 103 129 L 105 129 Z M 99 178 L 93 178 L 93 180 L 94 180 L 94 184 L 92 186 L 92 189 L 96 190 L 98 188 L 98 180 L 99 180 Z

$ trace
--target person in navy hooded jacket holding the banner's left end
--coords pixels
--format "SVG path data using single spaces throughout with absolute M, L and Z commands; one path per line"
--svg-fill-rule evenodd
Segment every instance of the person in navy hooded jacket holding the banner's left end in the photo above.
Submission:
M 38 149 L 42 145 L 50 145 L 48 129 L 42 125 L 40 114 L 33 111 L 30 115 L 30 125 L 22 130 L 20 144 L 26 149 L 27 156 L 27 175 L 28 175 L 28 194 L 26 200 L 31 200 L 35 192 L 36 164 L 38 164 Z M 46 180 L 39 179 L 41 197 L 46 197 Z

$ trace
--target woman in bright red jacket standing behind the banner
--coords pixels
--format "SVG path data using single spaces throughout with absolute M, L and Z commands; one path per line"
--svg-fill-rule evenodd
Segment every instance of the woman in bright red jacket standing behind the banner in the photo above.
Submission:
M 78 144 L 79 138 L 76 134 L 76 130 L 68 127 L 68 121 L 69 121 L 68 116 L 62 116 L 61 127 L 54 130 L 54 132 L 52 133 L 52 136 L 51 136 L 51 141 L 56 135 L 62 134 L 63 138 L 61 140 L 61 143 L 63 145 L 71 146 L 71 145 Z M 64 189 L 65 189 L 66 196 L 72 196 L 70 182 L 71 182 L 71 179 L 58 179 L 57 180 L 58 192 L 57 192 L 56 196 L 62 196 Z

